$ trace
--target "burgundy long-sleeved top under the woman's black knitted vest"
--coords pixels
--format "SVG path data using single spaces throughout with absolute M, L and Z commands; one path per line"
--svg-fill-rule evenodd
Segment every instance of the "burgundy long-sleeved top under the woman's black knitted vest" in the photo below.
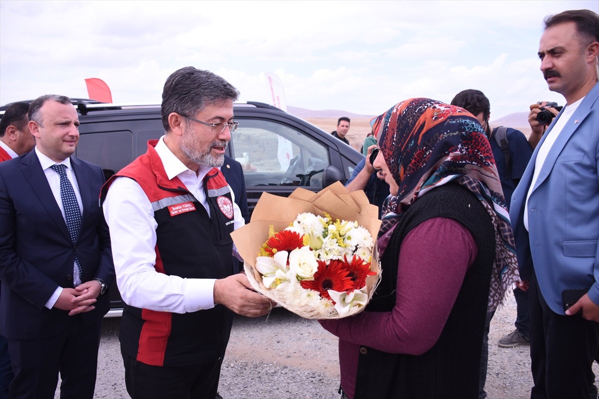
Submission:
M 380 237 L 381 254 L 394 229 Z M 360 345 L 410 355 L 421 355 L 432 348 L 477 253 L 476 240 L 458 221 L 426 220 L 407 234 L 401 245 L 397 296 L 391 312 L 362 312 L 320 321 L 322 327 L 339 337 L 341 386 L 350 398 L 355 391 Z

